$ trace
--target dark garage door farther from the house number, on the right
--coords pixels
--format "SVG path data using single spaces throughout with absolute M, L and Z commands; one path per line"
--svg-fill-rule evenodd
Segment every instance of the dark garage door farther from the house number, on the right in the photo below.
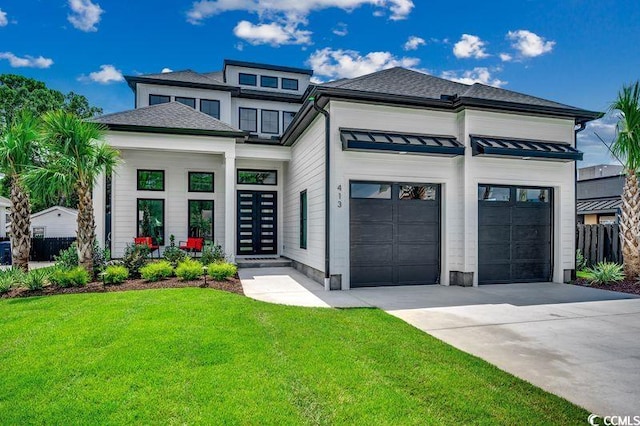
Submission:
M 478 186 L 478 282 L 551 280 L 552 190 Z

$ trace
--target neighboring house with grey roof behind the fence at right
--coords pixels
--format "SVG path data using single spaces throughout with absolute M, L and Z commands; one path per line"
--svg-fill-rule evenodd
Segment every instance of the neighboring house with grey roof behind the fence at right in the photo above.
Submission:
M 622 173 L 621 166 L 604 164 L 578 170 L 578 223 L 618 223 L 625 181 Z

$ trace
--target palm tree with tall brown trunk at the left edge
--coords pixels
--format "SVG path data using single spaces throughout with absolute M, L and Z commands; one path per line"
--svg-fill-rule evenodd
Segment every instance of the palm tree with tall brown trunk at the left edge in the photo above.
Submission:
M 39 150 L 39 121 L 29 112 L 20 112 L 0 140 L 0 172 L 11 182 L 11 261 L 29 270 L 31 251 L 31 203 L 23 181 Z

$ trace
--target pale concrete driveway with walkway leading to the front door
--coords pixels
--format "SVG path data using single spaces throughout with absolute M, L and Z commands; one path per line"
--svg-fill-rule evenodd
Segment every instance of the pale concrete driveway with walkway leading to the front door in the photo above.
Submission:
M 243 269 L 271 303 L 378 307 L 600 415 L 640 415 L 640 298 L 566 284 L 325 292 L 292 268 Z

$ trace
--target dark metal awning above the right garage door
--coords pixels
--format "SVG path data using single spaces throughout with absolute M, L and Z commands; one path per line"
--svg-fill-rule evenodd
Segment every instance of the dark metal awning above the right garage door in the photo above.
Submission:
M 517 157 L 523 160 L 578 161 L 582 152 L 561 142 L 504 139 L 471 135 L 473 155 Z

